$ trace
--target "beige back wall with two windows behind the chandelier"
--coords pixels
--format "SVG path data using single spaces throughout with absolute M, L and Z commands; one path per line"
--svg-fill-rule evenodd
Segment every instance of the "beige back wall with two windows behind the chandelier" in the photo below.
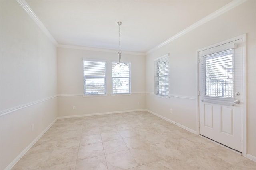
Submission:
M 145 109 L 145 56 L 123 53 L 122 61 L 131 62 L 130 95 L 112 95 L 111 61 L 116 52 L 58 48 L 58 115 L 74 116 Z M 83 58 L 106 60 L 106 96 L 84 93 Z M 140 103 L 138 105 L 138 102 Z M 76 106 L 76 109 L 73 109 Z

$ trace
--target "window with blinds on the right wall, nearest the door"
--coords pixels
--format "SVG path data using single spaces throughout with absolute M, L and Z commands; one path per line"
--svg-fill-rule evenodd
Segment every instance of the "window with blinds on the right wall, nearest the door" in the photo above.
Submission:
M 169 55 L 155 61 L 155 94 L 169 96 Z

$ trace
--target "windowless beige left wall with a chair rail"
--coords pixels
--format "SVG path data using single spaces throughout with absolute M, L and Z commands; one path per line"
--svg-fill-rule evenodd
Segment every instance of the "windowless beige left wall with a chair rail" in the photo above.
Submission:
M 58 101 L 55 45 L 14 0 L 0 1 L 0 22 L 3 170 L 56 119 Z

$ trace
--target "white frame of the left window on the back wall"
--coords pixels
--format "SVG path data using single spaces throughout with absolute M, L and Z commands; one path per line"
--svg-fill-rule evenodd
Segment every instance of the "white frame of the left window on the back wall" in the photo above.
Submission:
M 86 94 L 86 84 L 85 84 L 85 78 L 86 77 L 92 77 L 92 78 L 96 78 L 95 76 L 85 76 L 85 62 L 104 62 L 105 63 L 105 76 L 99 76 L 98 78 L 104 78 L 104 93 L 100 93 L 100 94 Z M 107 61 L 106 60 L 100 60 L 100 59 L 86 59 L 83 58 L 83 77 L 84 77 L 84 93 L 83 96 L 102 96 L 102 95 L 106 95 L 107 94 L 107 86 L 106 86 L 106 72 L 107 72 Z

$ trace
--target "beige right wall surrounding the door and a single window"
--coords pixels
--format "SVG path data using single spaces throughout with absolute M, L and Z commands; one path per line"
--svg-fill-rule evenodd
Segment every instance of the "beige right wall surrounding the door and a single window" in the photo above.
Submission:
M 247 1 L 150 53 L 146 91 L 154 92 L 154 59 L 170 53 L 170 99 L 146 95 L 146 108 L 196 131 L 196 50 L 246 33 L 247 153 L 256 156 L 256 1 Z M 178 97 L 172 97 L 178 96 Z M 194 99 L 193 99 L 194 98 Z M 154 104 L 154 105 L 153 105 Z M 170 109 L 173 113 L 170 114 Z

